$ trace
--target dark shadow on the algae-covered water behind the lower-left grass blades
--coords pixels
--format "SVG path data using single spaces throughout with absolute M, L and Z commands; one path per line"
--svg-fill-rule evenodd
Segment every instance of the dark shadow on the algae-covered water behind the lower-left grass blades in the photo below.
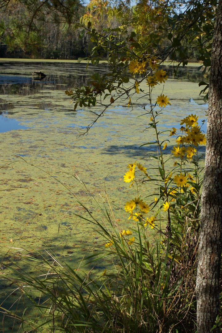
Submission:
M 33 321 L 35 313 L 37 313 L 37 308 L 34 307 L 33 302 L 24 294 L 24 292 L 22 292 L 22 289 L 20 288 L 22 280 L 19 273 L 25 275 L 26 279 L 31 280 L 33 280 L 33 277 L 42 276 L 40 277 L 41 280 L 44 279 L 46 274 L 50 274 L 52 272 L 49 265 L 59 268 L 61 264 L 63 267 L 67 267 L 67 265 L 69 265 L 72 270 L 76 270 L 84 279 L 89 277 L 91 279 L 96 278 L 98 279 L 98 283 L 101 283 L 101 276 L 104 269 L 109 266 L 112 268 L 111 263 L 108 260 L 105 261 L 104 258 L 90 264 L 87 263 L 87 261 L 83 261 L 84 256 L 92 255 L 93 253 L 96 253 L 96 251 L 100 250 L 97 245 L 99 244 L 99 246 L 101 246 L 101 241 L 98 241 L 99 237 L 95 237 L 95 247 L 91 246 L 90 249 L 87 241 L 84 240 L 78 241 L 78 243 L 80 243 L 80 247 L 78 249 L 73 246 L 75 244 L 64 244 L 61 247 L 53 245 L 58 242 L 58 238 L 60 238 L 60 243 L 64 241 L 62 236 L 55 238 L 52 237 L 46 244 L 42 244 L 42 249 L 39 249 L 38 251 L 37 249 L 33 249 L 33 251 L 18 249 L 14 254 L 8 253 L 5 255 L 0 261 L 0 305 L 6 310 L 10 310 L 12 313 L 16 313 L 16 315 L 20 318 L 24 314 L 25 321 L 29 321 L 31 319 Z M 57 261 L 55 261 L 54 258 Z M 49 264 L 47 265 L 43 259 L 47 260 Z M 68 267 L 67 270 L 69 270 Z M 88 276 L 87 273 L 89 271 L 90 275 Z M 8 276 L 9 279 L 5 278 L 4 275 Z M 73 273 L 70 273 L 69 282 L 71 283 L 73 281 L 73 283 L 75 283 L 75 280 L 72 279 L 72 275 Z M 13 281 L 17 281 L 16 284 L 13 283 Z M 36 302 L 36 305 L 43 304 L 44 307 L 51 305 L 48 302 L 47 295 L 38 292 L 34 288 L 29 288 L 29 284 L 25 283 L 24 289 L 29 291 L 30 295 Z M 44 313 L 44 309 L 42 313 Z M 40 311 L 38 311 L 38 316 L 40 316 Z M 25 332 L 31 329 L 31 326 L 27 325 L 24 321 L 23 325 L 25 331 L 23 331 L 21 321 L 19 319 L 15 320 L 12 316 L 7 316 L 2 309 L 0 310 L 0 321 L 1 326 L 3 327 L 3 332 Z M 37 325 L 43 322 L 44 316 L 40 316 L 35 324 Z

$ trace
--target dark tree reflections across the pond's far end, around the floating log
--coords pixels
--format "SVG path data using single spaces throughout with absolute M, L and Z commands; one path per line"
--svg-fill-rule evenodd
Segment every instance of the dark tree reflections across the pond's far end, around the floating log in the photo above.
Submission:
M 0 94 L 2 95 L 33 95 L 42 90 L 64 91 L 73 87 L 86 85 L 89 76 L 95 72 L 106 74 L 109 72 L 107 64 L 89 66 L 77 63 L 0 63 Z M 171 79 L 199 82 L 201 72 L 197 67 L 180 67 L 174 78 L 173 67 L 165 66 Z M 46 77 L 33 76 L 42 72 Z

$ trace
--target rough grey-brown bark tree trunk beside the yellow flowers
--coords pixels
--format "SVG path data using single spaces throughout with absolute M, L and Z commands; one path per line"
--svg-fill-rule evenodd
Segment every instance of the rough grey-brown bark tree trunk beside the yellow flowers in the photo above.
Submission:
M 222 0 L 213 36 L 209 80 L 207 146 L 197 266 L 197 327 L 208 333 L 219 314 L 222 251 Z M 220 332 L 215 328 L 213 332 Z

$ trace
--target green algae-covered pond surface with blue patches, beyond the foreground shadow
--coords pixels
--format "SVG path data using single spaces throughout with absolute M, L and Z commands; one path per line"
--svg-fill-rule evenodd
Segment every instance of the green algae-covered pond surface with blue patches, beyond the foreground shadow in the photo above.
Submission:
M 46 74 L 42 80 L 32 75 L 39 71 Z M 147 98 L 134 97 L 133 110 L 127 108 L 128 100 L 113 104 L 87 136 L 77 138 L 94 120 L 91 111 L 102 109 L 74 111 L 64 93 L 86 84 L 90 74 L 108 71 L 107 64 L 89 66 L 86 72 L 85 63 L 0 60 L 0 244 L 8 255 L 16 251 L 12 247 L 45 246 L 76 262 L 84 251 L 103 245 L 90 223 L 75 215 L 85 213 L 77 198 L 102 220 L 93 197 L 104 205 L 108 195 L 119 225 L 129 225 L 122 208 L 136 193 L 123 182 L 126 166 L 135 160 L 149 169 L 155 166 L 150 158 L 155 146 L 140 148 L 155 140 L 153 132 L 145 131 L 149 119 L 142 116 Z M 201 80 L 197 67 L 180 68 L 177 78 L 169 75 L 164 93 L 172 106 L 160 116 L 159 129 L 179 128 L 180 119 L 191 113 L 205 118 Z M 163 138 L 169 139 L 168 133 Z M 175 145 L 171 141 L 166 156 Z M 145 187 L 141 191 L 147 195 Z

